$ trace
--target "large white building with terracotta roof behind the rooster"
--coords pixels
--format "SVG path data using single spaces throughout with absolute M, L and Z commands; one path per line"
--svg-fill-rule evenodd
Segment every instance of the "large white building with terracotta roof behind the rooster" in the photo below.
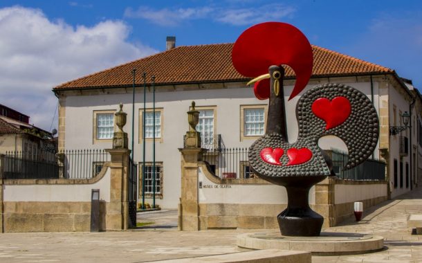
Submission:
M 134 160 L 143 160 L 143 73 L 147 73 L 146 96 L 146 165 L 147 178 L 152 169 L 152 75 L 156 87 L 156 203 L 163 208 L 176 208 L 181 196 L 181 157 L 183 135 L 188 129 L 186 112 L 192 100 L 201 112 L 199 130 L 203 143 L 214 145 L 217 135 L 226 147 L 248 147 L 264 133 L 268 101 L 257 100 L 248 78 L 235 71 L 231 62 L 232 44 L 178 46 L 149 57 L 116 66 L 61 84 L 53 89 L 59 98 L 59 149 L 111 148 L 111 137 L 116 125 L 113 113 L 122 102 L 127 113 L 125 131 L 131 145 L 131 121 L 134 120 Z M 374 102 L 380 118 L 380 140 L 375 158 L 387 158 L 387 180 L 392 196 L 409 191 L 417 185 L 422 167 L 421 98 L 410 91 L 403 80 L 384 66 L 371 64 L 325 48 L 313 46 L 313 75 L 305 91 L 316 84 L 336 82 L 355 87 Z M 132 114 L 132 70 L 136 69 L 136 94 Z M 287 101 L 293 89 L 295 75 L 286 70 L 284 94 L 288 138 L 297 138 L 295 105 L 299 96 Z M 304 91 L 302 91 L 303 93 Z M 417 96 L 415 96 L 415 94 Z M 412 107 L 416 98 L 419 105 Z M 402 126 L 401 114 L 411 112 L 412 129 L 390 135 L 390 126 Z M 407 138 L 407 139 L 404 139 Z M 421 138 L 422 139 L 422 138 Z M 401 143 L 411 142 L 407 153 Z M 324 149 L 345 149 L 338 138 L 320 140 Z M 388 153 L 385 155 L 385 153 Z M 388 156 L 388 157 L 387 157 Z M 239 162 L 239 161 L 237 161 Z M 239 166 L 244 163 L 238 163 Z M 218 167 L 217 167 L 218 169 Z M 247 173 L 226 174 L 246 176 Z M 149 176 L 149 177 L 148 177 Z M 247 177 L 247 176 L 246 176 Z M 147 201 L 151 203 L 151 181 L 146 182 Z M 245 183 L 248 183 L 245 180 Z

